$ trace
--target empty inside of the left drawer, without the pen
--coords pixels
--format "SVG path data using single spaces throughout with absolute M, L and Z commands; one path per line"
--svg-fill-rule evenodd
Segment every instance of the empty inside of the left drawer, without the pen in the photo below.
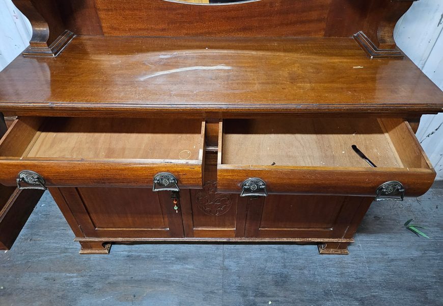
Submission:
M 22 117 L 0 144 L 13 159 L 202 160 L 198 119 Z

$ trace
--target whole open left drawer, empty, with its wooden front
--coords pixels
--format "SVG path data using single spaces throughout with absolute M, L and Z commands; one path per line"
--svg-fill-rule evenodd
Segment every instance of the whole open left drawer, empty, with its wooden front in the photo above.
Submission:
M 201 119 L 21 117 L 0 141 L 0 184 L 30 170 L 45 187 L 152 187 L 169 172 L 202 188 L 204 133 Z

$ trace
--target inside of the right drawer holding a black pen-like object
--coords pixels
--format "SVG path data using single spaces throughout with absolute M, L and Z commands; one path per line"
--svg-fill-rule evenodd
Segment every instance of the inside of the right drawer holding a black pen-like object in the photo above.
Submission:
M 219 164 L 430 168 L 410 126 L 402 119 L 279 118 L 223 121 Z

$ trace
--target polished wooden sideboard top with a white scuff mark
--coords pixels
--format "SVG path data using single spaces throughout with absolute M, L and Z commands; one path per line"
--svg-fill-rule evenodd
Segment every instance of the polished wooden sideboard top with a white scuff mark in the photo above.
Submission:
M 371 60 L 351 38 L 76 37 L 55 61 L 18 57 L 0 73 L 0 110 L 38 115 L 441 108 L 409 59 Z

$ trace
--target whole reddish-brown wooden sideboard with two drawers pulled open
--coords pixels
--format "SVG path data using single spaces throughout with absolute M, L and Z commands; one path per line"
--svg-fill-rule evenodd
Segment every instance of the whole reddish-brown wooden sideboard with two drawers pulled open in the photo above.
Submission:
M 80 253 L 346 254 L 374 200 L 433 183 L 414 132 L 443 94 L 392 37 L 412 1 L 14 3 L 33 37 L 0 72 L 0 248 L 48 189 Z

